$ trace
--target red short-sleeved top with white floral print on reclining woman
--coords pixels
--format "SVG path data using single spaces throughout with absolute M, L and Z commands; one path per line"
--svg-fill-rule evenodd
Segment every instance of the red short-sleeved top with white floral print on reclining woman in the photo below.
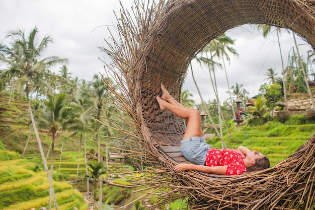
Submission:
M 246 172 L 243 156 L 237 150 L 209 149 L 206 166 L 227 166 L 225 175 L 240 175 Z

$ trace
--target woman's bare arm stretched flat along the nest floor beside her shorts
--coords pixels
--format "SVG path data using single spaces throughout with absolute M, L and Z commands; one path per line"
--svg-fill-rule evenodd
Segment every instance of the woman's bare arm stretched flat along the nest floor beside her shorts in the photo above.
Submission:
M 180 172 L 180 171 L 186 171 L 186 170 L 193 170 L 193 171 L 199 171 L 204 172 L 208 174 L 219 174 L 219 175 L 225 175 L 227 166 L 202 166 L 202 165 L 195 165 L 195 164 L 187 164 L 187 163 L 180 163 L 176 166 L 174 166 L 174 171 Z

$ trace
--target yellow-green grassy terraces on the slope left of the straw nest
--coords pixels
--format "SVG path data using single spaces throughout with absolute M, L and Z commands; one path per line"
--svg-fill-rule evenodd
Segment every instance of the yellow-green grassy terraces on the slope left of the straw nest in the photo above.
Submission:
M 27 120 L 18 119 L 23 113 L 27 114 L 26 101 L 20 98 L 12 98 L 8 104 L 9 96 L 0 96 L 0 209 L 29 210 L 33 207 L 39 209 L 46 206 L 48 209 L 49 191 L 48 180 L 43 171 L 42 160 L 38 151 L 38 145 L 34 133 L 26 150 L 25 158 L 20 159 L 27 142 L 30 129 Z M 47 154 L 51 137 L 46 130 L 39 130 L 44 153 Z M 86 182 L 71 182 L 76 177 L 78 163 L 78 143 L 80 136 L 68 137 L 65 133 L 57 136 L 54 157 L 54 189 L 56 192 L 58 209 L 87 209 L 88 203 L 83 199 L 80 191 L 86 191 Z M 62 160 L 59 169 L 59 157 L 61 144 L 64 140 Z M 96 143 L 92 139 L 87 141 L 88 149 L 96 149 Z M 50 165 L 50 158 L 48 158 Z M 123 170 L 131 170 L 121 163 L 109 163 L 109 173 L 119 174 Z M 80 168 L 78 178 L 86 176 L 84 152 L 81 150 Z M 105 176 L 105 175 L 104 175 Z M 118 180 L 117 180 L 118 181 Z M 90 190 L 93 184 L 90 183 Z M 110 189 L 110 192 L 108 192 Z M 110 197 L 111 202 L 121 202 L 124 196 L 129 196 L 132 188 L 122 189 L 119 187 L 105 186 L 104 198 Z

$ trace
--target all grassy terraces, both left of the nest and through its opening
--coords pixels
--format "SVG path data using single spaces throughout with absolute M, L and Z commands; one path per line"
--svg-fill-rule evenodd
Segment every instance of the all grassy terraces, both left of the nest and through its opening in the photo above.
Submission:
M 0 96 L 0 205 L 1 209 L 30 209 L 48 205 L 47 177 L 43 172 L 42 161 L 38 152 L 38 145 L 34 134 L 32 134 L 25 159 L 20 159 L 24 150 L 29 128 L 26 120 L 19 120 L 17 117 L 27 110 L 26 103 L 22 99 L 15 98 L 8 105 L 8 96 Z M 282 125 L 281 123 L 267 123 L 262 126 L 242 126 L 239 130 L 232 132 L 232 139 L 226 135 L 224 141 L 228 148 L 237 148 L 239 145 L 256 149 L 266 154 L 271 164 L 275 165 L 294 152 L 300 145 L 305 143 L 313 133 L 315 125 Z M 45 154 L 48 151 L 51 138 L 47 131 L 40 131 L 41 141 Z M 73 180 L 76 174 L 78 162 L 79 138 L 69 138 L 66 134 L 58 136 L 56 157 L 54 160 L 54 182 L 55 190 L 60 208 L 86 209 L 86 203 L 80 193 L 74 188 L 85 190 L 84 183 L 77 183 L 76 186 L 61 183 L 60 181 Z M 62 139 L 64 139 L 64 152 L 59 170 L 59 155 Z M 213 147 L 220 148 L 218 138 L 208 141 Z M 95 142 L 88 141 L 90 148 L 96 148 Z M 58 153 L 59 152 L 59 153 Z M 48 160 L 48 164 L 50 161 Z M 109 173 L 120 173 L 124 170 L 122 166 L 111 166 Z M 80 159 L 79 178 L 85 176 L 85 164 L 83 152 Z M 117 188 L 117 187 L 116 187 Z M 113 187 L 106 187 L 105 197 L 115 199 L 117 192 L 121 190 Z M 110 192 L 109 192 L 110 191 Z M 126 191 L 126 193 L 129 193 Z M 6 198 L 10 199 L 6 199 Z

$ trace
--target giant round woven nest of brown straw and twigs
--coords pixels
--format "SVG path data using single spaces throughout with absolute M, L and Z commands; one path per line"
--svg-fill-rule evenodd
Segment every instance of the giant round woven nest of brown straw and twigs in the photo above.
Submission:
M 184 127 L 155 101 L 160 83 L 179 100 L 190 61 L 228 29 L 244 24 L 287 28 L 314 48 L 313 0 L 143 0 L 131 13 L 122 6 L 119 15 L 117 34 L 100 47 L 112 59 L 105 65 L 107 76 L 117 82 L 108 87 L 119 120 L 107 126 L 123 133 L 117 137 L 125 141 L 119 151 L 155 175 L 138 183 L 147 186 L 142 197 L 156 197 L 151 208 L 187 198 L 191 209 L 314 209 L 314 135 L 287 159 L 257 173 L 228 178 L 174 173 L 176 162 L 159 146 L 178 146 Z

